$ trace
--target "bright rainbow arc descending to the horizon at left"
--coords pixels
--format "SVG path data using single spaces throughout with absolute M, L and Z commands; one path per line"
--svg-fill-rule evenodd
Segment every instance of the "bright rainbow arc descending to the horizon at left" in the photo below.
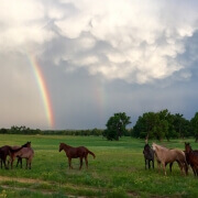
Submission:
M 29 57 L 29 61 L 30 61 L 32 68 L 34 70 L 34 75 L 35 75 L 35 78 L 37 81 L 37 86 L 40 88 L 40 92 L 41 92 L 41 97 L 43 99 L 48 127 L 51 129 L 53 129 L 54 128 L 53 108 L 52 108 L 52 102 L 51 102 L 51 98 L 50 98 L 50 92 L 48 92 L 48 89 L 47 89 L 47 86 L 45 82 L 45 78 L 43 76 L 43 73 L 41 70 L 41 67 L 40 67 L 35 56 L 29 54 L 28 57 Z

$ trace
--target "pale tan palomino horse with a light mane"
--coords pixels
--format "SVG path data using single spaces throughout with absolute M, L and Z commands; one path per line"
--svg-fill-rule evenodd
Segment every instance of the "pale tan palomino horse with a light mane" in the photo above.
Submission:
M 157 145 L 155 143 L 152 144 L 152 147 L 155 152 L 155 157 L 157 161 L 158 169 L 161 168 L 161 165 L 163 166 L 164 174 L 166 175 L 166 165 L 173 163 L 176 161 L 180 172 L 185 170 L 185 174 L 188 174 L 188 164 L 186 162 L 185 153 L 180 150 L 169 150 L 167 147 Z

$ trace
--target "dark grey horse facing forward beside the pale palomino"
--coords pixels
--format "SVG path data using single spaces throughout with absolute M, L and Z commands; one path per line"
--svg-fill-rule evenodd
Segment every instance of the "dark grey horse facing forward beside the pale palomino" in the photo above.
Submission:
M 154 168 L 154 151 L 152 150 L 150 144 L 144 145 L 143 154 L 144 154 L 144 160 L 145 160 L 145 169 L 146 167 L 148 167 L 148 169 L 151 168 L 151 164 L 150 164 L 151 162 Z

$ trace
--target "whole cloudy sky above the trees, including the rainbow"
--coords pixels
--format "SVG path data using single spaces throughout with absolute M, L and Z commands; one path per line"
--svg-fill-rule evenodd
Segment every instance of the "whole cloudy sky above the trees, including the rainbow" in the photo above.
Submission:
M 0 129 L 105 129 L 198 111 L 197 0 L 1 0 Z

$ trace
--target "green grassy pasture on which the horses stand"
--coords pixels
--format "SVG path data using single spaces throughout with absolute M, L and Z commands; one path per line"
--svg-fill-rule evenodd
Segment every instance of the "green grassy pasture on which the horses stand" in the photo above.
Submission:
M 8 135 L 0 134 L 0 146 L 22 145 L 31 141 L 35 156 L 32 169 L 14 167 L 0 169 L 0 197 L 198 197 L 198 178 L 191 169 L 182 176 L 175 163 L 173 172 L 144 168 L 143 140 L 122 138 L 107 141 L 101 136 L 65 135 Z M 185 141 L 198 148 L 194 140 L 162 142 L 167 147 L 184 150 Z M 65 152 L 58 152 L 61 142 L 72 146 L 85 145 L 96 154 L 88 156 L 79 170 L 79 160 L 73 160 L 68 168 Z M 150 142 L 152 144 L 152 141 Z

